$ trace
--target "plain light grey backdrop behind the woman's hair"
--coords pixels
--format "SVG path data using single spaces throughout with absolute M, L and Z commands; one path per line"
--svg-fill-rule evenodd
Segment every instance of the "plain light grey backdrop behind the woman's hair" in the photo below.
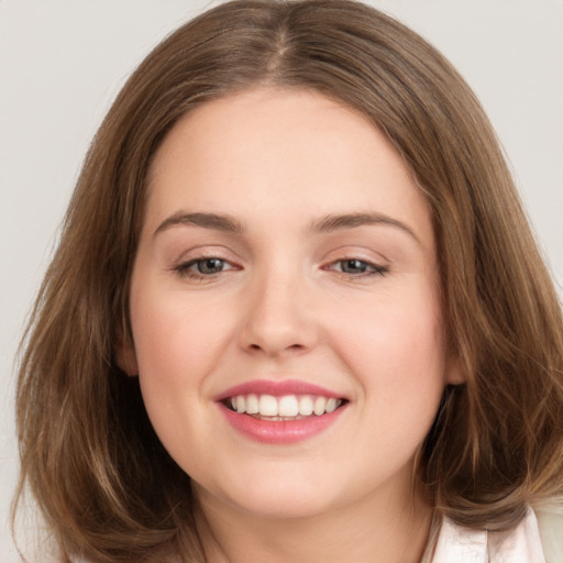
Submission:
M 13 358 L 81 159 L 134 66 L 217 3 L 0 0 L 0 563 L 19 561 Z M 563 2 L 369 3 L 429 38 L 477 92 L 563 295 Z

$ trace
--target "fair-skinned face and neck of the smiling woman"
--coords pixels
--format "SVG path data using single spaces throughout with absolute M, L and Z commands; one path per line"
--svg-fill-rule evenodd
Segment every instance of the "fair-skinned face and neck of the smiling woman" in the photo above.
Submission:
M 430 212 L 390 143 L 320 93 L 258 88 L 180 120 L 148 190 L 122 365 L 192 478 L 208 560 L 419 561 L 413 459 L 460 376 Z M 241 384 L 245 404 L 339 407 L 233 412 Z

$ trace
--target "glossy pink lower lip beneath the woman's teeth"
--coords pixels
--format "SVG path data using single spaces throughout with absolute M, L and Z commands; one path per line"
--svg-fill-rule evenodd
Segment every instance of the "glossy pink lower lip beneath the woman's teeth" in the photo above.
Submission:
M 312 438 L 332 426 L 344 410 L 340 407 L 327 415 L 311 415 L 297 420 L 261 420 L 234 412 L 222 404 L 219 407 L 235 430 L 265 444 L 292 444 Z

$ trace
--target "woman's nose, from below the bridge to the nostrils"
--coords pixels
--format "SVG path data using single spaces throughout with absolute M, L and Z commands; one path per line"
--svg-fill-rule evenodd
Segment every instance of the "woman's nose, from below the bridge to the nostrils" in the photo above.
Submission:
M 312 288 L 299 274 L 274 272 L 249 289 L 240 345 L 254 354 L 272 357 L 299 354 L 312 349 L 319 327 L 311 302 Z

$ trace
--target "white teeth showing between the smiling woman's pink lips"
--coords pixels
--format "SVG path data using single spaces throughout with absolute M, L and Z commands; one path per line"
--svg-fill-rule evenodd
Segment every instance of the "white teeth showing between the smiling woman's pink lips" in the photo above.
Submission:
M 233 412 L 249 415 L 260 420 L 282 421 L 321 417 L 334 412 L 346 402 L 345 399 L 322 395 L 236 395 L 222 404 Z

